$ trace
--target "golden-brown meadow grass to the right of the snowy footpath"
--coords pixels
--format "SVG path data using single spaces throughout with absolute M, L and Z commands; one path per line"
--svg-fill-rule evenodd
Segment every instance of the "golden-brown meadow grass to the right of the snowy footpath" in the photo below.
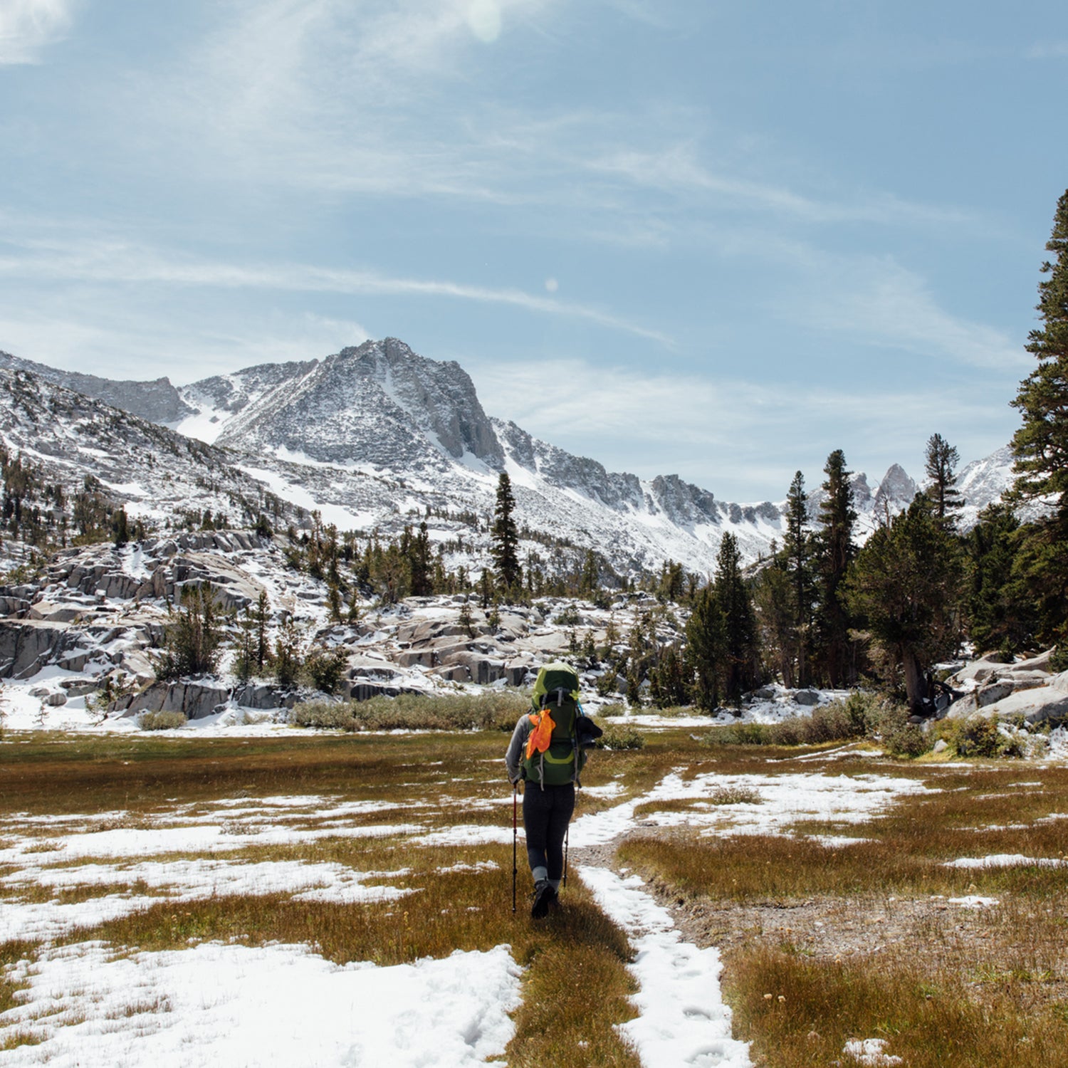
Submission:
M 1068 867 L 945 866 L 996 853 L 1064 857 L 1068 819 L 1055 817 L 1068 813 L 1068 769 L 863 765 L 902 768 L 940 792 L 906 797 L 861 824 L 799 820 L 794 836 L 645 834 L 618 859 L 664 894 L 707 904 L 713 941 L 732 943 L 722 983 L 735 1031 L 758 1065 L 844 1065 L 847 1039 L 875 1037 L 917 1068 L 1068 1063 Z M 828 847 L 813 834 L 869 841 Z M 1000 905 L 946 904 L 968 894 Z M 784 927 L 791 922 L 802 927 Z

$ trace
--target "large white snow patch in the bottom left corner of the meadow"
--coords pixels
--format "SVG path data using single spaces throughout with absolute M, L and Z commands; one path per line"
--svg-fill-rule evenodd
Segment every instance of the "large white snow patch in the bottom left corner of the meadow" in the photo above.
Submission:
M 116 957 L 84 943 L 13 977 L 29 990 L 5 1023 L 41 1041 L 9 1050 L 4 1065 L 461 1068 L 504 1052 L 520 971 L 507 945 L 377 968 L 339 967 L 302 945 Z

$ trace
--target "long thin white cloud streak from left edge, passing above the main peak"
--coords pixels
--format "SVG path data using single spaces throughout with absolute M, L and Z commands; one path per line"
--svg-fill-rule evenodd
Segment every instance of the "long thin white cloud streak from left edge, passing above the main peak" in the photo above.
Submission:
M 0 274 L 28 280 L 82 281 L 96 284 L 157 284 L 215 288 L 279 289 L 288 293 L 337 293 L 362 296 L 443 297 L 505 304 L 537 314 L 582 319 L 670 346 L 666 334 L 590 304 L 560 300 L 545 293 L 493 288 L 435 279 L 390 276 L 308 264 L 245 265 L 164 255 L 113 241 L 77 247 L 41 240 L 27 242 L 25 254 L 0 255 Z

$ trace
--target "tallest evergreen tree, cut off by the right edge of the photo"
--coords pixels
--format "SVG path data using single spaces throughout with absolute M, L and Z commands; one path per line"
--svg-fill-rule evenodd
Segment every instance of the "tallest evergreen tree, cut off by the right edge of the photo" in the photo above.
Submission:
M 1039 602 L 1039 638 L 1068 639 L 1068 190 L 1057 201 L 1046 245 L 1053 258 L 1038 284 L 1040 329 L 1027 351 L 1038 366 L 1020 383 L 1014 407 L 1023 425 L 1012 437 L 1017 472 L 1012 499 L 1042 501 L 1050 515 L 1026 531 L 1019 569 Z

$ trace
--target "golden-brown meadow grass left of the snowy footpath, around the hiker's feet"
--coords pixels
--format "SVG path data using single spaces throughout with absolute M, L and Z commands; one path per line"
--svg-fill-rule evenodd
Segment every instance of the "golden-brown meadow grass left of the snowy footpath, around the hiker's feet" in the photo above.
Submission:
M 512 821 L 511 788 L 503 775 L 501 732 L 414 737 L 339 735 L 284 739 L 74 738 L 67 743 L 45 736 L 23 737 L 4 753 L 0 815 L 9 846 L 35 839 L 36 863 L 49 868 L 108 864 L 107 885 L 10 886 L 9 899 L 88 900 L 107 894 L 143 894 L 135 880 L 122 881 L 124 867 L 156 860 L 234 863 L 335 863 L 381 875 L 365 886 L 410 891 L 392 901 L 340 905 L 295 900 L 293 894 L 205 895 L 195 900 L 160 900 L 124 917 L 68 932 L 65 943 L 107 942 L 115 954 L 135 949 L 185 948 L 201 940 L 240 944 L 307 944 L 331 960 L 379 964 L 444 957 L 456 948 L 488 949 L 507 942 L 527 971 L 524 1007 L 507 1059 L 513 1065 L 606 1065 L 637 1068 L 633 1051 L 614 1030 L 634 1015 L 628 995 L 633 980 L 626 970 L 630 947 L 623 932 L 594 905 L 574 878 L 565 891 L 566 909 L 547 923 L 529 917 L 529 876 L 521 863 L 518 911 L 512 912 L 512 848 L 507 846 L 417 847 L 411 835 L 347 837 L 344 828 L 417 823 L 427 831 L 456 824 L 499 826 Z M 615 754 L 598 754 L 590 785 L 611 781 L 623 769 Z M 241 842 L 208 853 L 162 852 L 129 857 L 65 858 L 59 839 L 76 831 L 144 830 L 183 826 L 208 818 L 240 830 L 257 798 L 309 796 L 295 808 L 261 806 L 263 822 L 296 835 L 324 836 L 289 843 Z M 226 798 L 235 806 L 220 805 Z M 616 803 L 613 799 L 611 803 Z M 346 802 L 374 801 L 386 810 L 348 813 Z M 473 805 L 472 805 L 473 802 Z M 484 804 L 485 802 L 499 802 Z M 580 811 L 604 802 L 584 797 Z M 482 805 L 482 806 L 480 806 Z M 14 814 L 83 815 L 49 827 L 23 823 Z M 101 819 L 91 819 L 101 816 Z M 252 822 L 260 821 L 257 815 Z M 339 833 L 331 833 L 337 827 Z M 520 850 L 520 861 L 523 861 Z M 496 867 L 488 867 L 492 862 Z M 469 865 L 475 870 L 442 870 Z M 402 870 L 407 874 L 396 874 Z M 164 893 L 164 891 L 150 891 Z M 32 957 L 30 943 L 9 944 L 11 961 Z M 6 958 L 5 958 L 6 959 Z M 6 981 L 6 980 L 4 980 Z M 18 991 L 0 986 L 0 1006 Z M 40 1040 L 31 1030 L 0 1030 L 0 1047 Z

